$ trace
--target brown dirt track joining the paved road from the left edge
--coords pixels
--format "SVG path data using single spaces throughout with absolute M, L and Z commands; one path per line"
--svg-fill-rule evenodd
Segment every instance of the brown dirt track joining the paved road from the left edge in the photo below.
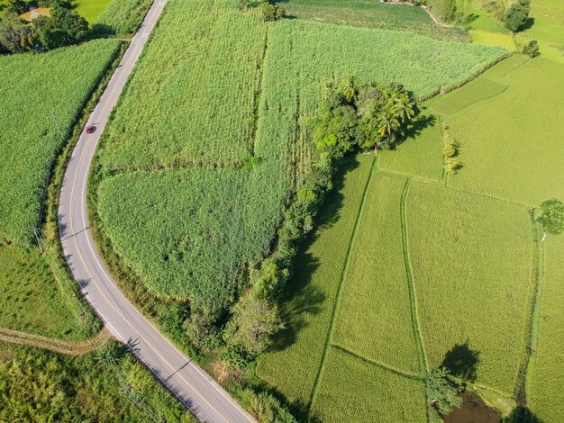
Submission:
M 107 329 L 102 329 L 95 338 L 86 339 L 79 342 L 62 341 L 41 337 L 41 335 L 33 335 L 17 330 L 0 328 L 0 340 L 11 344 L 18 344 L 30 347 L 47 349 L 54 353 L 64 354 L 66 356 L 81 356 L 83 354 L 94 351 L 97 347 L 103 346 L 112 339 L 112 334 Z

